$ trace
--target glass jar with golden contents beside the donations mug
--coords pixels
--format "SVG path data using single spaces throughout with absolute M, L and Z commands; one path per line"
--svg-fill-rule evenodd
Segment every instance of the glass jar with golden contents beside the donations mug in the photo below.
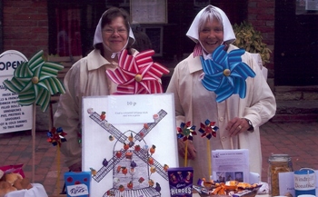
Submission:
M 288 154 L 272 154 L 268 158 L 268 184 L 269 193 L 278 196 L 279 193 L 279 172 L 293 172 L 292 158 Z

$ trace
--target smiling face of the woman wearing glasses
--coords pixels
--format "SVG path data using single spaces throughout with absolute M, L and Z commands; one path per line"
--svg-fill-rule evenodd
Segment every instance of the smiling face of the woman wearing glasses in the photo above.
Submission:
M 103 43 L 108 47 L 106 51 L 120 52 L 128 40 L 128 30 L 124 25 L 124 18 L 115 17 L 110 24 L 104 25 L 102 34 Z

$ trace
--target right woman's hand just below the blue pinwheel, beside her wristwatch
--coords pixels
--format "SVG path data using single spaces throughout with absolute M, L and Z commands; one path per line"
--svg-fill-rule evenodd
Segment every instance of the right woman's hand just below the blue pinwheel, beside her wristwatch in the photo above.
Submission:
M 235 117 L 227 123 L 226 130 L 229 131 L 230 137 L 238 135 L 239 133 L 246 132 L 250 128 L 247 120 L 244 118 Z

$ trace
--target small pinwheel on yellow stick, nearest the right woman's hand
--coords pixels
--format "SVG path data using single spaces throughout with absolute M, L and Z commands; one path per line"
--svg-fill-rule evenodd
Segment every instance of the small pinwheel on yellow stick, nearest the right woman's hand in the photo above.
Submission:
M 208 170 L 209 175 L 212 175 L 211 169 L 211 148 L 210 148 L 210 140 L 212 136 L 216 137 L 216 131 L 219 129 L 219 127 L 214 126 L 215 122 L 211 122 L 208 119 L 205 120 L 204 123 L 201 123 L 201 128 L 199 129 L 199 132 L 202 133 L 201 137 L 206 137 L 206 150 L 207 150 L 207 158 L 208 158 Z

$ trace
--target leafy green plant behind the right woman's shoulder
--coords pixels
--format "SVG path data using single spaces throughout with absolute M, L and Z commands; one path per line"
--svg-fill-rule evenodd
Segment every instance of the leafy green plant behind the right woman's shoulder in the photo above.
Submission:
M 250 53 L 260 54 L 263 66 L 269 63 L 272 51 L 263 43 L 262 33 L 255 31 L 253 25 L 243 21 L 241 25 L 233 25 L 236 40 L 234 45 Z

